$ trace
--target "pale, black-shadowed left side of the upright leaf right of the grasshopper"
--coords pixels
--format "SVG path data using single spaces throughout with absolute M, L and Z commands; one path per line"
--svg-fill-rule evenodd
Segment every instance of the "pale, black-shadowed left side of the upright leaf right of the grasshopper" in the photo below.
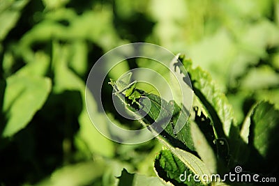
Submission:
M 195 149 L 199 157 L 204 161 L 211 173 L 227 171 L 226 162 L 229 159 L 229 146 L 227 140 L 217 138 L 212 121 L 206 116 L 204 105 L 194 95 L 193 110 L 190 122 L 191 134 L 195 144 Z

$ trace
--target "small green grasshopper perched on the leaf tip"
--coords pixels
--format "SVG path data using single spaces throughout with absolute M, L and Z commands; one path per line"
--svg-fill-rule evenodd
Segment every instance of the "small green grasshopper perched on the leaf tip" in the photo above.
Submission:
M 132 76 L 132 72 L 129 72 L 127 75 L 124 75 L 123 77 L 117 79 L 116 81 L 114 79 L 110 79 L 109 84 L 111 84 L 116 91 L 116 93 L 123 93 L 126 98 L 129 100 L 132 100 L 132 104 L 135 102 L 140 106 L 140 103 L 137 102 L 136 99 L 142 97 L 142 93 L 135 88 L 137 82 L 134 81 L 129 84 L 130 78 Z

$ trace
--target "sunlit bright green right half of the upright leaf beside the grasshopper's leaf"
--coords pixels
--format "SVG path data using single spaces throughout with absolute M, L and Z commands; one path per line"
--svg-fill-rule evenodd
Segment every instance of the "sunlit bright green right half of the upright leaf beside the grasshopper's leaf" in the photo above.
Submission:
M 233 123 L 233 112 L 225 94 L 216 86 L 208 72 L 200 67 L 192 68 L 192 61 L 190 60 L 184 60 L 183 65 L 190 75 L 195 95 L 202 102 L 213 122 L 217 136 L 228 137 Z

